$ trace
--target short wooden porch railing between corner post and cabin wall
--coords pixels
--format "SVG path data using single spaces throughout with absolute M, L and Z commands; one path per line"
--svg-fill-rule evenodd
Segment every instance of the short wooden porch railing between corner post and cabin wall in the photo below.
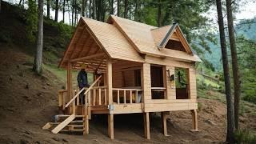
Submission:
M 113 102 L 133 104 L 142 102 L 142 90 L 113 88 Z

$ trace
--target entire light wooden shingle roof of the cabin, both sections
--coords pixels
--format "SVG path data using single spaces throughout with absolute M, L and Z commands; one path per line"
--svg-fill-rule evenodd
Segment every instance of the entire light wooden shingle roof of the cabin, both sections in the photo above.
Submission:
M 186 38 L 179 30 L 179 26 L 171 25 L 158 28 L 113 15 L 107 22 L 80 18 L 74 36 L 70 40 L 59 66 L 66 67 L 68 61 L 73 60 L 74 62 L 76 59 L 87 63 L 95 62 L 95 65 L 97 62 L 106 62 L 106 58 L 145 62 L 143 57 L 145 54 L 161 58 L 176 58 L 179 61 L 201 61 L 192 51 L 190 53 L 158 49 L 159 46 L 164 46 L 162 43 L 166 44 L 168 38 L 177 40 L 181 37 L 180 42 L 185 43 L 187 49 L 190 49 Z M 90 61 L 80 59 L 101 54 L 105 55 Z

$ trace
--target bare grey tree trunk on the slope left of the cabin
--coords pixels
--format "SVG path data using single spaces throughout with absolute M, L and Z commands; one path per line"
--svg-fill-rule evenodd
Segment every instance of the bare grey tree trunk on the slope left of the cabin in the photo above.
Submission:
M 42 73 L 42 45 L 43 45 L 43 0 L 38 0 L 38 39 L 37 50 L 34 56 L 33 70 Z

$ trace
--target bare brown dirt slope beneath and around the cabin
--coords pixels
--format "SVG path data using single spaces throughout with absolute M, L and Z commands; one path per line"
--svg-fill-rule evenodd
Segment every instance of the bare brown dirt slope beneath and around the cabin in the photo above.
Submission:
M 64 86 L 45 70 L 35 75 L 33 58 L 11 45 L 0 44 L 0 143 L 222 143 L 226 134 L 226 107 L 222 102 L 198 99 L 199 132 L 190 132 L 189 111 L 172 112 L 168 134 L 162 134 L 158 114 L 150 118 L 150 140 L 143 138 L 142 114 L 114 116 L 114 140 L 107 137 L 106 116 L 90 121 L 90 134 L 52 134 L 42 130 L 58 113 L 57 92 Z M 213 92 L 214 93 L 214 92 Z M 242 117 L 242 126 L 256 130 L 255 116 Z

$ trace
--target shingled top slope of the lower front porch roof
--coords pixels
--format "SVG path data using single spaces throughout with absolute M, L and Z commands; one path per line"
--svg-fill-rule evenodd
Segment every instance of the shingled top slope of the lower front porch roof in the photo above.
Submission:
M 102 44 L 110 58 L 144 62 L 144 59 L 115 26 L 90 18 L 82 18 L 82 21 L 86 23 L 94 38 Z

